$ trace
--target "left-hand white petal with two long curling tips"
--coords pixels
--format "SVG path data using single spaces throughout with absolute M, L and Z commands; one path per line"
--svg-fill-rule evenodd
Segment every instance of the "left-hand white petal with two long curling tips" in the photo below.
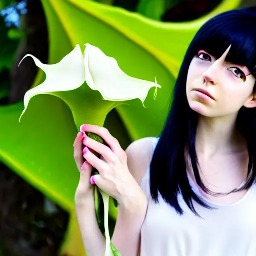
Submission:
M 51 94 L 50 92 L 74 90 L 80 87 L 85 81 L 85 70 L 83 67 L 83 55 L 79 44 L 67 54 L 60 62 L 47 65 L 43 64 L 38 58 L 31 54 L 25 55 L 20 63 L 26 57 L 32 57 L 35 64 L 46 74 L 45 81 L 28 90 L 24 96 L 24 110 L 19 117 L 19 121 L 26 111 L 29 100 L 38 94 Z M 19 65 L 20 65 L 19 63 Z

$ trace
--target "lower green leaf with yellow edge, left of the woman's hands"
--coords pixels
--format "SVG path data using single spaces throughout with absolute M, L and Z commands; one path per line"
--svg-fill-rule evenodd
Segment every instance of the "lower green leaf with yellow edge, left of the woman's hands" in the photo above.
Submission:
M 18 119 L 24 108 L 22 102 L 0 107 L 0 161 L 70 213 L 67 235 L 71 238 L 64 244 L 63 251 L 82 255 L 74 212 L 79 172 L 73 159 L 72 145 L 77 129 L 71 111 L 62 100 L 50 95 L 39 95 L 31 99 L 31 103 L 33 107 L 21 124 Z M 112 115 L 114 113 L 106 120 L 108 125 L 121 127 L 118 118 L 114 116 L 112 120 Z M 129 143 L 125 137 L 119 140 L 124 145 Z

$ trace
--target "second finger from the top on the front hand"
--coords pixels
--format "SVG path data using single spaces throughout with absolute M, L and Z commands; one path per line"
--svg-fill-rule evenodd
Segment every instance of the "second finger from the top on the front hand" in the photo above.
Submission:
M 117 156 L 113 153 L 113 151 L 107 147 L 106 145 L 88 137 L 87 135 L 84 135 L 83 138 L 83 144 L 87 146 L 89 149 L 92 149 L 93 151 L 101 154 L 106 162 L 114 162 L 117 158 Z M 86 147 L 83 149 L 83 153 Z

